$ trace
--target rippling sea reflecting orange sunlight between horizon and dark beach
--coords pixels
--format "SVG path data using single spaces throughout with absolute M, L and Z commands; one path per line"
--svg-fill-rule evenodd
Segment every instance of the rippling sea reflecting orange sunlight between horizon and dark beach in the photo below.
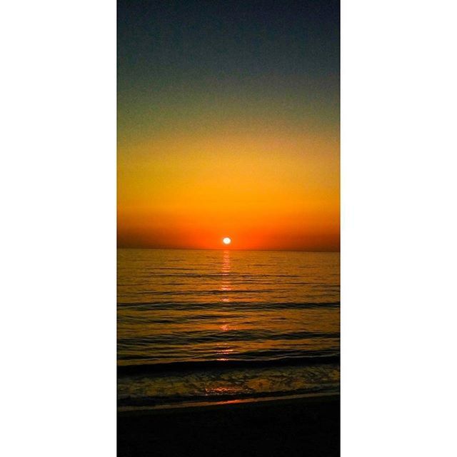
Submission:
M 334 392 L 339 254 L 119 249 L 119 406 Z

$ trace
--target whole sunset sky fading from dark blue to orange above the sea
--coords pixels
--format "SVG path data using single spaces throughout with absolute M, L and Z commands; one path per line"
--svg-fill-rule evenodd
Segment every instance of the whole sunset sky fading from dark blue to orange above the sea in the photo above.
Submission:
M 118 2 L 118 246 L 338 251 L 338 1 Z

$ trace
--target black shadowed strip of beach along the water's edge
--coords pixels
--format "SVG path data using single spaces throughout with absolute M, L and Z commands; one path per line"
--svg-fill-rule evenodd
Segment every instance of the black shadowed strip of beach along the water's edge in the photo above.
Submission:
M 339 456 L 339 396 L 118 415 L 119 456 Z

